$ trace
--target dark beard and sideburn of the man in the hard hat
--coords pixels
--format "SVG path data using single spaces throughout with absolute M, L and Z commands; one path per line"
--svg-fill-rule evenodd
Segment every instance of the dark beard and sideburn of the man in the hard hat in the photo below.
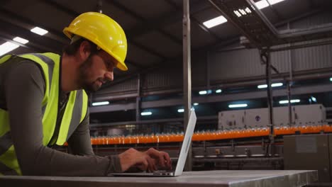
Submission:
M 92 55 L 79 66 L 79 85 L 88 92 L 98 91 L 101 86 L 97 81 L 103 81 L 103 78 L 98 78 L 95 81 L 89 81 L 89 69 L 92 66 Z

